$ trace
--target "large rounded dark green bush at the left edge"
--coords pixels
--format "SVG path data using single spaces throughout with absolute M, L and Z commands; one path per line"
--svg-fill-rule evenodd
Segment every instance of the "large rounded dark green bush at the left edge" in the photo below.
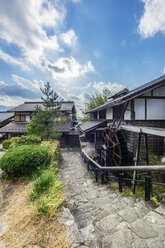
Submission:
M 0 159 L 0 168 L 9 176 L 30 176 L 50 164 L 51 152 L 47 147 L 24 145 L 10 149 Z

